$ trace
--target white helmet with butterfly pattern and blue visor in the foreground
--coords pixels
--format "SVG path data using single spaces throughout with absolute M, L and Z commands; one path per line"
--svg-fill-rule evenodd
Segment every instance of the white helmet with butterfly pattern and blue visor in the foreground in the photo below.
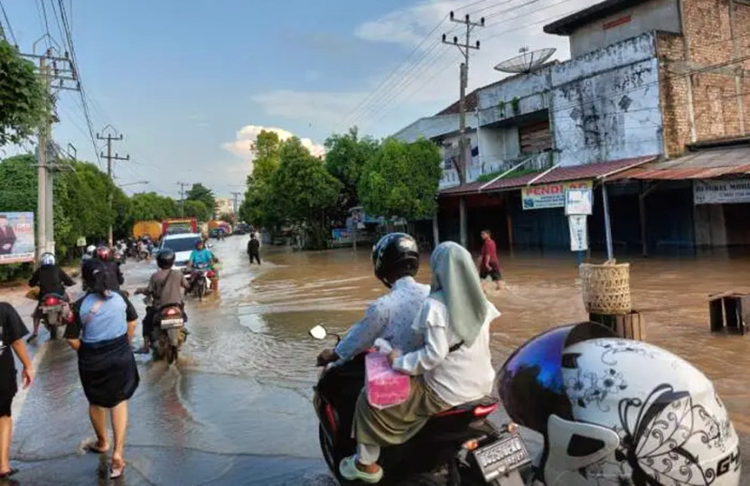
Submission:
M 548 486 L 737 486 L 739 438 L 703 373 L 586 322 L 545 332 L 498 375 L 515 422 L 544 435 Z

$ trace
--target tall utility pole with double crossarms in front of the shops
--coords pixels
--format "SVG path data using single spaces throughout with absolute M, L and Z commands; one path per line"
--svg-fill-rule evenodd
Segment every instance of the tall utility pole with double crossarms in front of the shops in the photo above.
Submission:
M 475 44 L 471 42 L 471 35 L 474 27 L 484 26 L 484 17 L 479 22 L 472 22 L 469 14 L 466 14 L 463 19 L 456 19 L 455 14 L 451 12 L 451 22 L 463 23 L 466 26 L 466 40 L 465 42 L 458 42 L 458 37 L 453 38 L 453 42 L 446 39 L 445 33 L 443 34 L 443 43 L 455 45 L 459 51 L 464 55 L 464 62 L 461 63 L 460 67 L 460 98 L 458 100 L 458 110 L 460 113 L 459 117 L 459 139 L 458 139 L 458 166 L 456 172 L 458 173 L 458 181 L 460 184 L 466 183 L 466 167 L 469 165 L 471 157 L 466 155 L 466 86 L 469 82 L 469 52 L 472 49 L 479 49 L 479 41 Z M 469 151 L 471 151 L 471 143 L 469 143 Z M 466 247 L 467 235 L 466 235 L 466 200 L 464 196 L 461 196 L 459 200 L 459 216 L 460 216 L 460 227 L 461 227 L 461 245 Z

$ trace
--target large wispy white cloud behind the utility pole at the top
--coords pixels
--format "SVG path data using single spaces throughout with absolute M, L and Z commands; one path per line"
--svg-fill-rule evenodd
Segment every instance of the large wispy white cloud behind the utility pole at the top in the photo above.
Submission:
M 485 16 L 483 28 L 473 31 L 472 39 L 482 48 L 471 51 L 469 89 L 476 89 L 507 74 L 494 70 L 498 62 L 518 55 L 521 47 L 531 50 L 554 47 L 553 59 L 569 57 L 567 37 L 548 35 L 542 27 L 571 12 L 594 5 L 600 0 L 508 0 L 475 3 L 461 10 L 466 0 L 425 0 L 408 8 L 400 8 L 377 19 L 362 23 L 353 34 L 369 42 L 398 43 L 405 52 L 419 47 L 412 59 L 397 70 L 380 91 L 347 118 L 372 89 L 389 72 L 378 73 L 376 79 L 363 79 L 362 89 L 341 92 L 275 90 L 253 99 L 269 115 L 286 117 L 311 124 L 318 131 L 330 133 L 359 125 L 376 136 L 387 136 L 418 117 L 429 117 L 458 98 L 458 49 L 444 45 L 440 36 L 457 35 L 461 25 L 444 22 L 429 36 L 437 23 L 455 10 L 456 16 L 471 14 L 473 20 Z M 422 42 L 427 37 L 426 42 Z M 422 42 L 420 44 L 420 42 Z M 415 60 L 422 60 L 414 64 Z M 346 126 L 345 126 L 346 125 Z

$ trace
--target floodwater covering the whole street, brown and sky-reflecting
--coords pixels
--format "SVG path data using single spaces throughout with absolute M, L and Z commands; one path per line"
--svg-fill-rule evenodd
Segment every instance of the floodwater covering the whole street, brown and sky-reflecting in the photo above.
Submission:
M 322 344 L 307 331 L 315 324 L 345 331 L 386 289 L 371 275 L 365 250 L 261 248 L 263 265 L 250 267 L 245 243 L 244 237 L 215 243 L 223 262 L 220 294 L 202 303 L 188 299 L 192 334 L 177 366 L 137 357 L 141 384 L 130 402 L 127 472 L 114 483 L 333 484 L 310 403 Z M 498 366 L 534 334 L 586 320 L 574 257 L 501 259 L 508 286 L 492 294 L 503 313 L 492 330 Z M 750 292 L 750 259 L 630 261 L 633 304 L 645 313 L 647 341 L 706 372 L 750 444 L 750 337 L 711 335 L 707 299 Z M 132 293 L 154 269 L 128 263 L 125 288 Z M 417 279 L 429 282 L 427 256 Z M 20 290 L 0 290 L 0 299 L 23 315 L 33 309 Z M 143 303 L 133 302 L 142 315 Z M 140 327 L 136 336 L 137 345 Z M 37 382 L 14 404 L 18 482 L 106 484 L 99 474 L 107 464 L 80 452 L 92 432 L 74 353 L 48 342 L 43 331 L 32 348 Z

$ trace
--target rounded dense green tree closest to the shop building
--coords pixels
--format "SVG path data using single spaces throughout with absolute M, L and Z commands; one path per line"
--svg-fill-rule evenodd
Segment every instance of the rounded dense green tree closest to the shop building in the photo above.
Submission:
M 435 214 L 440 151 L 428 140 L 386 139 L 365 164 L 358 185 L 368 213 L 409 220 Z

